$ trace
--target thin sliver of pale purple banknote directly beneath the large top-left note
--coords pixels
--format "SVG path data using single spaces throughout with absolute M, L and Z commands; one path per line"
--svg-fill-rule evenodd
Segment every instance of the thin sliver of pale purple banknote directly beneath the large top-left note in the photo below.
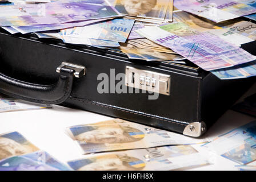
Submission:
M 108 18 L 107 18 L 108 19 Z M 21 32 L 22 34 L 27 34 L 31 32 L 41 32 L 41 31 L 50 31 L 50 30 L 60 30 L 64 28 L 71 27 L 81 27 L 86 26 L 92 23 L 101 22 L 105 19 L 94 19 L 87 21 L 79 21 L 73 23 L 62 23 L 62 24 L 38 24 L 37 26 L 12 26 L 15 30 Z

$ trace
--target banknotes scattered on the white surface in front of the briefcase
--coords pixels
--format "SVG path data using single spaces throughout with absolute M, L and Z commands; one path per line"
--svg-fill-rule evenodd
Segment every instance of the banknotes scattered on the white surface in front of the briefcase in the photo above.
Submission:
M 256 160 L 256 121 L 212 142 L 122 119 L 71 126 L 65 133 L 77 143 L 81 154 L 90 155 L 60 162 L 14 131 L 0 134 L 0 170 L 166 171 L 214 164 L 213 156 L 198 152 L 191 144 L 233 160 L 238 170 L 256 170 L 250 165 Z

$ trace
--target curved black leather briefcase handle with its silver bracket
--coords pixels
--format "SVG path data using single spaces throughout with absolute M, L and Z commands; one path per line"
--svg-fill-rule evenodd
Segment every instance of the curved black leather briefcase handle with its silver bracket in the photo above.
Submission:
M 63 62 L 56 71 L 59 80 L 51 85 L 32 84 L 0 73 L 0 92 L 30 102 L 61 104 L 70 96 L 74 77 L 85 75 L 86 68 Z

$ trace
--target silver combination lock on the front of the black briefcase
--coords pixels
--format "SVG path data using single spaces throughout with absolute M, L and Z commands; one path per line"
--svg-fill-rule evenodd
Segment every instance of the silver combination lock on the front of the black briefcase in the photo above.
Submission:
M 157 92 L 160 94 L 170 95 L 170 75 L 146 71 L 133 67 L 126 67 L 125 85 L 137 89 Z

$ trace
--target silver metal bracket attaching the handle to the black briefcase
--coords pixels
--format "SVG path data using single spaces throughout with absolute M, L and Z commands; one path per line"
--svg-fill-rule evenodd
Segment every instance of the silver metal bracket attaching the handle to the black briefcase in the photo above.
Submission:
M 62 62 L 61 65 L 56 69 L 56 72 L 57 73 L 61 72 L 61 68 L 73 69 L 75 71 L 74 77 L 76 77 L 76 78 L 80 78 L 80 77 L 84 76 L 86 73 L 86 68 L 82 65 Z

